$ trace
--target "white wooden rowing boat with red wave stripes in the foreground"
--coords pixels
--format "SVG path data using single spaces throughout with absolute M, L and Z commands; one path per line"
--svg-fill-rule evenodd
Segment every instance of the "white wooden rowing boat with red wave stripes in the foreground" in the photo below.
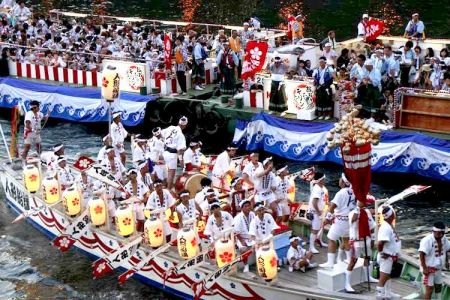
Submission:
M 30 194 L 26 190 L 22 180 L 22 169 L 16 164 L 4 162 L 0 166 L 0 178 L 6 197 L 4 198 L 12 210 L 21 214 L 30 209 L 45 206 L 36 214 L 27 218 L 29 224 L 53 239 L 65 232 L 65 228 L 74 222 L 74 218 L 69 217 L 64 212 L 61 204 L 47 206 L 38 193 Z M 17 225 L 27 226 L 27 225 Z M 304 219 L 298 219 L 293 223 L 294 231 L 306 233 L 308 224 Z M 277 236 L 275 244 L 286 244 L 286 239 L 290 232 L 284 232 Z M 123 238 L 115 231 L 104 228 L 89 226 L 88 230 L 75 241 L 74 248 L 90 258 L 102 258 L 114 253 L 121 245 L 133 242 L 136 236 Z M 143 257 L 146 257 L 152 250 L 144 243 L 139 245 L 134 254 L 129 259 L 123 260 L 118 267 L 119 271 L 126 271 L 135 268 Z M 280 255 L 280 251 L 278 251 Z M 325 251 L 316 256 L 315 261 L 325 261 Z M 184 273 L 171 273 L 167 276 L 166 271 L 170 270 L 183 261 L 178 256 L 176 247 L 170 247 L 167 253 L 161 253 L 151 260 L 145 267 L 135 274 L 135 278 L 150 286 L 162 289 L 170 294 L 191 299 L 196 298 L 192 287 L 197 286 L 208 275 L 217 271 L 211 264 L 203 264 L 191 268 Z M 401 278 L 393 280 L 394 292 L 408 299 L 419 297 L 418 284 L 420 275 L 418 272 L 417 260 L 405 254 L 401 256 L 402 272 Z M 287 271 L 287 267 L 282 266 L 278 272 L 277 280 L 267 283 L 258 276 L 255 276 L 255 269 L 252 266 L 249 273 L 231 271 L 218 277 L 207 290 L 202 290 L 202 299 L 367 299 L 373 295 L 373 289 L 369 292 L 365 284 L 356 287 L 359 294 L 349 295 L 339 291 L 326 291 L 318 288 L 318 276 L 316 270 L 309 270 L 306 273 Z M 443 299 L 448 299 L 450 295 L 450 280 L 445 279 Z M 319 285 L 320 286 L 320 285 Z M 204 287 L 203 287 L 204 289 Z

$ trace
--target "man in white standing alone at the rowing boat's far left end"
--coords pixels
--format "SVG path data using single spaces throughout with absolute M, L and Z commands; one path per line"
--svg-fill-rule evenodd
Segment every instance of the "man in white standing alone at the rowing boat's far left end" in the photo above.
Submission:
M 24 148 L 22 151 L 22 160 L 25 162 L 30 151 L 31 145 L 36 145 L 36 152 L 41 153 L 41 128 L 42 122 L 47 121 L 49 114 L 44 117 L 44 114 L 39 111 L 39 101 L 30 101 L 30 110 L 25 114 L 24 121 Z

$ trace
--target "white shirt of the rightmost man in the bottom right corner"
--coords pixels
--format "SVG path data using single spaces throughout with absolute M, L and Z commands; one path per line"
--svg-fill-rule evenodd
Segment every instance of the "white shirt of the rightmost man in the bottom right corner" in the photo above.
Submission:
M 425 264 L 427 267 L 442 269 L 445 266 L 445 253 L 450 249 L 450 242 L 446 236 L 442 237 L 441 241 L 442 249 L 440 252 L 433 233 L 430 233 L 420 241 L 419 252 L 425 253 Z

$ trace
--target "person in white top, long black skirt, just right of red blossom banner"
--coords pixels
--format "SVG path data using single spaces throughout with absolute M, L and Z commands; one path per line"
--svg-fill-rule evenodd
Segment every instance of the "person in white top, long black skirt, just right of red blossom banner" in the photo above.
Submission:
M 269 110 L 283 112 L 287 109 L 283 80 L 289 66 L 287 62 L 282 61 L 278 53 L 274 53 L 273 63 L 267 64 L 267 71 L 271 73 L 272 78 Z

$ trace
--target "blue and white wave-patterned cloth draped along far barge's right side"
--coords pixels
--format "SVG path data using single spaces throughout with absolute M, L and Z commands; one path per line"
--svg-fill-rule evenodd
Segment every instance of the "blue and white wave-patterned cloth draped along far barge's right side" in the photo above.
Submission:
M 264 150 L 299 161 L 342 164 L 339 148 L 328 149 L 326 133 L 332 123 L 288 120 L 260 113 L 238 121 L 234 142 L 249 151 Z M 374 172 L 416 173 L 450 181 L 450 141 L 421 133 L 384 131 L 372 150 Z

